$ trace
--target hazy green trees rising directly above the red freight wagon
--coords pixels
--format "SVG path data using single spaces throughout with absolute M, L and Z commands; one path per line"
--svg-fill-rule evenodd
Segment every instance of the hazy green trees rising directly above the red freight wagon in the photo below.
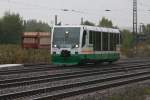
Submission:
M 42 21 L 36 20 L 24 21 L 25 32 L 50 32 L 50 26 Z

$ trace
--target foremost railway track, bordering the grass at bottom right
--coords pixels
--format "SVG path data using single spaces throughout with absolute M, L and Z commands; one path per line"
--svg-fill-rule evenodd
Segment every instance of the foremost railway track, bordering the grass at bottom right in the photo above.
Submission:
M 126 76 L 118 76 L 118 77 L 112 77 L 112 78 L 106 78 L 104 80 L 95 80 L 87 83 L 76 83 L 76 84 L 70 84 L 63 88 L 63 90 L 58 90 L 58 91 L 50 91 L 50 88 L 47 88 L 46 92 L 39 93 L 39 95 L 34 95 L 31 97 L 27 97 L 24 99 L 34 99 L 34 100 L 51 100 L 51 99 L 62 99 L 62 98 L 67 98 L 70 96 L 75 96 L 75 95 L 81 95 L 85 93 L 90 93 L 98 90 L 104 90 L 112 87 L 117 87 L 121 85 L 126 85 L 130 83 L 135 83 L 143 80 L 147 80 L 150 78 L 149 74 L 144 74 L 143 75 L 126 75 Z M 100 82 L 100 83 L 98 83 Z M 86 84 L 86 86 L 82 86 L 82 84 Z M 70 87 L 70 88 L 69 88 Z M 66 89 L 67 88 L 67 89 Z

